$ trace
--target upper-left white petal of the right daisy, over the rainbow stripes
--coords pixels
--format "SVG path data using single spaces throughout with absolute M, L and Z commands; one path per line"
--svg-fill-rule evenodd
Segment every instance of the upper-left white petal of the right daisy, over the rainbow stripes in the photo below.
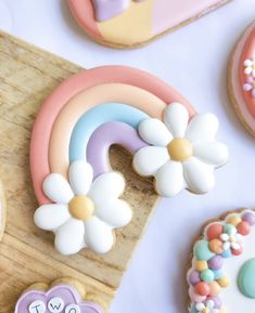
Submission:
M 139 123 L 139 134 L 146 143 L 157 146 L 166 146 L 173 140 L 164 122 L 157 118 L 142 120 Z

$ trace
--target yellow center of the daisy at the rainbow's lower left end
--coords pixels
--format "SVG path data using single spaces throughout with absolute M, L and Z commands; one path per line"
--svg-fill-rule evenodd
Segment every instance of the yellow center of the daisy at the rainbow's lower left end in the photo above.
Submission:
M 94 204 L 87 196 L 75 196 L 68 207 L 71 216 L 77 220 L 87 221 L 93 216 Z

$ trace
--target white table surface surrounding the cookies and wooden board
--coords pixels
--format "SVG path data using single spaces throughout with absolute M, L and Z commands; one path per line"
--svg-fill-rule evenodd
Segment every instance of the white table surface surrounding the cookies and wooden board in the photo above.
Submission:
M 118 51 L 92 42 L 65 0 L 0 0 L 0 28 L 84 67 L 124 64 L 151 71 L 183 93 L 200 112 L 220 120 L 218 140 L 230 160 L 217 186 L 203 196 L 164 199 L 112 303 L 112 313 L 187 312 L 184 272 L 192 240 L 208 219 L 255 205 L 255 139 L 237 119 L 227 94 L 229 54 L 255 17 L 255 0 L 234 0 L 150 45 Z

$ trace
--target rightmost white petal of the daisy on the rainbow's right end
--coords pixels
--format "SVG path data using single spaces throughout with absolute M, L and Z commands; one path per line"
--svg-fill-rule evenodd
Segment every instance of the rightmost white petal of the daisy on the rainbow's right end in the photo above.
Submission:
M 217 167 L 226 164 L 229 156 L 227 146 L 220 142 L 196 143 L 193 153 L 200 160 Z

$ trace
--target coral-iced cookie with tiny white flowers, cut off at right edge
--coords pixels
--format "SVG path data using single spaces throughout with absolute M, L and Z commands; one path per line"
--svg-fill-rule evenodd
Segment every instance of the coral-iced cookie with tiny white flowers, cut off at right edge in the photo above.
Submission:
M 240 120 L 255 135 L 255 22 L 244 31 L 231 56 L 229 95 Z

